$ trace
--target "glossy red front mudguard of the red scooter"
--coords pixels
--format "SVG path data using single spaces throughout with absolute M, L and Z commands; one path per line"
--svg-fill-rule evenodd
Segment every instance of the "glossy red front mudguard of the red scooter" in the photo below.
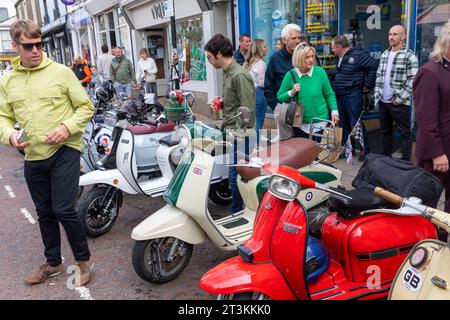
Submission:
M 281 273 L 272 263 L 251 264 L 234 257 L 209 270 L 199 282 L 211 294 L 262 293 L 273 300 L 295 300 Z

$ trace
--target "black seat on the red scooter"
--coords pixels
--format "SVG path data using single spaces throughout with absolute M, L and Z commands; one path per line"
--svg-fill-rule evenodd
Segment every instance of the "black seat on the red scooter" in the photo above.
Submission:
M 342 191 L 341 191 L 342 192 Z M 337 211 L 338 215 L 346 220 L 352 220 L 362 217 L 362 211 L 370 209 L 384 208 L 387 202 L 375 196 L 373 190 L 369 188 L 357 188 L 344 191 L 352 199 L 330 195 L 330 208 Z

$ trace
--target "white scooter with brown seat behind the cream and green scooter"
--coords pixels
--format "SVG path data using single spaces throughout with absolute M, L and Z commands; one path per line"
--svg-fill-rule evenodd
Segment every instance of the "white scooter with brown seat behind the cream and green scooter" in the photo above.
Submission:
M 105 112 L 104 118 L 106 124 L 114 126 L 111 151 L 98 162 L 100 169 L 82 175 L 79 183 L 80 186 L 94 186 L 84 192 L 77 206 L 86 234 L 91 238 L 112 228 L 122 205 L 123 193 L 162 195 L 188 143 L 184 139 L 180 141 L 177 132 L 172 131 L 173 125 L 166 121 L 136 129 L 137 126 L 129 126 L 126 112 L 110 110 Z M 157 148 L 156 165 L 151 172 L 148 172 L 149 168 L 144 168 L 143 172 L 138 167 L 136 150 L 140 145 L 148 144 L 144 140 L 154 141 L 151 145 Z M 152 153 L 151 150 L 148 153 Z M 231 196 L 228 184 L 224 183 L 228 177 L 227 168 L 217 166 L 214 177 L 216 184 L 212 195 L 228 203 Z M 211 197 L 213 201 L 216 198 Z

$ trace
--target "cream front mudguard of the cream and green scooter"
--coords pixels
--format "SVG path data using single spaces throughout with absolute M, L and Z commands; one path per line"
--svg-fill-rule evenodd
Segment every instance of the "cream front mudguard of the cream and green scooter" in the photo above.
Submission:
M 165 237 L 198 244 L 205 241 L 206 234 L 194 219 L 169 204 L 138 224 L 131 233 L 136 241 Z

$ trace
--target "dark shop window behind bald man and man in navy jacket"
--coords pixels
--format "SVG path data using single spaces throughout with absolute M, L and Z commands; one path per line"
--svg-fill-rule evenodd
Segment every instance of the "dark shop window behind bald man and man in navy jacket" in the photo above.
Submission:
M 389 47 L 389 29 L 406 24 L 404 1 L 342 1 L 342 32 L 375 59 Z

